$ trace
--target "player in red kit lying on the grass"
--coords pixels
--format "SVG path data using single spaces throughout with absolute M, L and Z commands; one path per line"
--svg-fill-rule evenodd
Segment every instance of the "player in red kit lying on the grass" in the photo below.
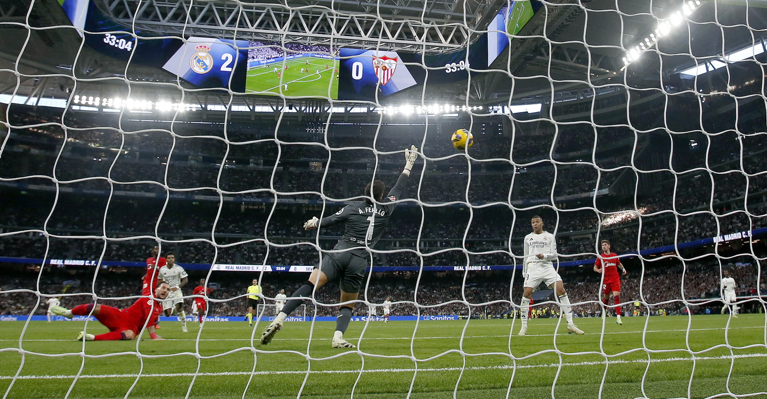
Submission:
M 159 299 L 165 299 L 168 296 L 170 285 L 166 282 L 160 282 L 154 290 L 154 296 Z M 93 335 L 85 334 L 80 331 L 77 340 L 85 341 L 120 341 L 131 340 L 138 337 L 141 330 L 146 326 L 149 336 L 152 339 L 163 339 L 154 331 L 154 325 L 157 323 L 157 317 L 163 312 L 163 304 L 153 298 L 138 298 L 130 308 L 120 310 L 107 305 L 78 305 L 71 310 L 55 306 L 51 312 L 65 318 L 74 316 L 92 315 L 104 327 L 109 328 L 109 332 Z

